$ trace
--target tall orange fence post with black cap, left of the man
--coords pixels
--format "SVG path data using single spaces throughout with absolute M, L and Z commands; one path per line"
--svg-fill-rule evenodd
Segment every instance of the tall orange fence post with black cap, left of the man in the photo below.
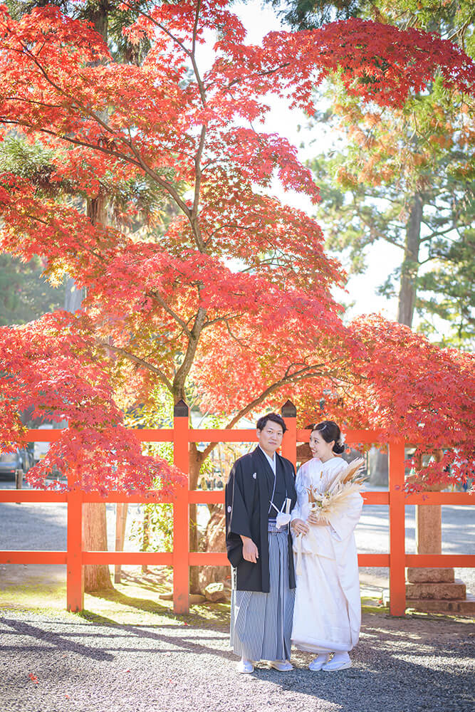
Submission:
M 189 468 L 189 412 L 183 400 L 173 409 L 173 463 L 186 475 Z M 189 611 L 189 483 L 177 487 L 173 503 L 173 610 Z

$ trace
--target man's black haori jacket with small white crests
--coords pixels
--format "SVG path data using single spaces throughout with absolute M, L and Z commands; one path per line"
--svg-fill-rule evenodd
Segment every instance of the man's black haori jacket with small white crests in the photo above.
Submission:
M 290 460 L 276 453 L 277 466 L 283 470 L 291 509 L 296 505 L 296 473 Z M 234 567 L 235 587 L 239 591 L 269 592 L 268 508 L 269 491 L 266 468 L 271 471 L 266 456 L 257 447 L 240 457 L 233 465 L 226 484 L 226 549 Z M 241 536 L 250 537 L 259 549 L 255 564 L 242 556 Z M 296 587 L 293 570 L 292 538 L 288 534 L 289 586 Z

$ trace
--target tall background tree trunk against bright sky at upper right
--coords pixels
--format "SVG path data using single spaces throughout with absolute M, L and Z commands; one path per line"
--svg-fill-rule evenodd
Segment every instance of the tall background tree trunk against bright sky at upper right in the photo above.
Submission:
M 415 193 L 412 197 L 412 205 L 406 225 L 404 260 L 401 266 L 401 283 L 397 308 L 398 322 L 407 326 L 412 326 L 412 318 L 414 316 L 423 206 L 422 195 Z

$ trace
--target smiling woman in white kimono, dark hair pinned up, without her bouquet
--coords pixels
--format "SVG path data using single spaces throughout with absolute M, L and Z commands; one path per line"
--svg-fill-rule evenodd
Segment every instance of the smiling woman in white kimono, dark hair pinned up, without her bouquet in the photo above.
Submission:
M 338 425 L 333 421 L 316 425 L 310 449 L 313 459 L 297 473 L 298 499 L 292 511 L 294 542 L 300 535 L 302 550 L 296 560 L 292 642 L 298 649 L 316 654 L 310 670 L 343 670 L 351 666 L 348 651 L 360 634 L 360 581 L 353 530 L 360 518 L 362 496 L 351 493 L 343 513 L 330 515 L 328 521 L 318 520 L 310 512 L 309 489 L 324 493 L 338 472 L 348 466 L 338 457 L 345 450 Z M 305 542 L 310 541 L 310 535 L 309 548 Z

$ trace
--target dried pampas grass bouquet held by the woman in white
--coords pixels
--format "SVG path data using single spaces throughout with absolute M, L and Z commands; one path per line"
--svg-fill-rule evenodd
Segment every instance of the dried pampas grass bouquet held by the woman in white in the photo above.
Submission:
M 353 460 L 343 470 L 338 472 L 323 494 L 312 487 L 307 489 L 308 503 L 310 504 L 311 522 L 312 515 L 319 522 L 328 521 L 333 515 L 341 514 L 348 508 L 348 497 L 355 492 L 360 492 L 365 476 L 362 467 L 365 461 L 362 457 Z

